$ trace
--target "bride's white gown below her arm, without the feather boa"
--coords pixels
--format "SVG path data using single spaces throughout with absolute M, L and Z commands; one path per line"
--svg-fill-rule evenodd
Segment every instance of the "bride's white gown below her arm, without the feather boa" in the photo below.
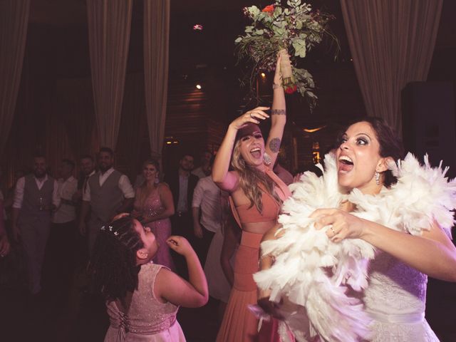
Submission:
M 380 252 L 369 267 L 363 301 L 375 342 L 439 341 L 425 319 L 427 276 Z

